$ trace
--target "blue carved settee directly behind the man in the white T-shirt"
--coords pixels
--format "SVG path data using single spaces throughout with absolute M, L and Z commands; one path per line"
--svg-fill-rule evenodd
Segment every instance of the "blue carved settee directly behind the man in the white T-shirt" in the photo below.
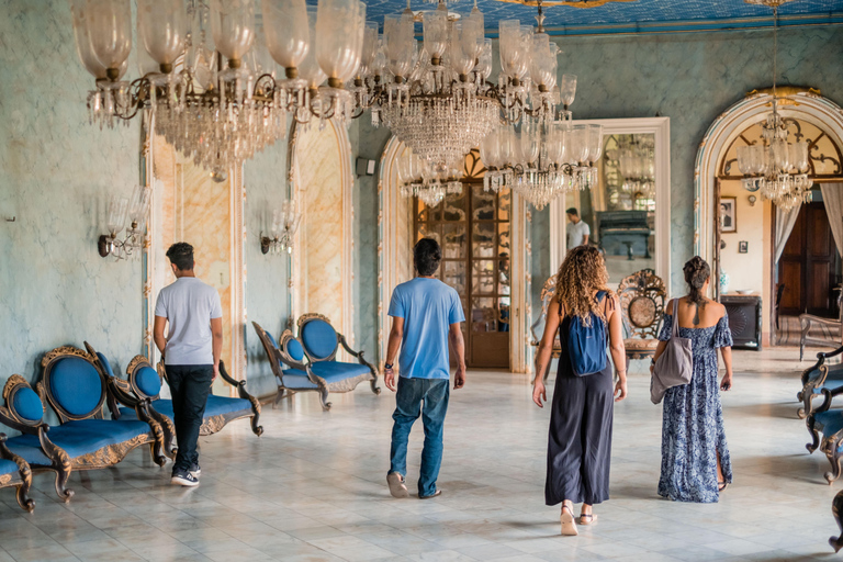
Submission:
M 207 396 L 207 404 L 205 405 L 205 416 L 202 420 L 202 426 L 199 428 L 199 435 L 209 436 L 220 431 L 229 422 L 235 419 L 250 418 L 251 430 L 255 435 L 259 436 L 263 432 L 263 427 L 258 425 L 260 419 L 260 403 L 246 392 L 246 381 L 236 381 L 232 379 L 228 371 L 225 369 L 225 363 L 220 361 L 220 376 L 225 382 L 235 386 L 240 395 L 239 398 L 229 396 L 217 396 L 211 394 Z M 172 412 L 172 401 L 169 398 L 161 398 L 161 381 L 167 381 L 167 370 L 164 368 L 164 363 L 158 363 L 158 370 L 156 371 L 149 361 L 144 356 L 136 356 L 128 363 L 126 368 L 126 378 L 132 394 L 140 398 L 142 401 L 148 401 L 149 415 L 153 419 L 156 419 L 165 434 L 165 448 L 168 453 L 175 456 L 176 447 L 173 441 L 176 440 L 176 426 L 172 420 L 175 414 Z M 120 417 L 133 417 L 136 414 L 136 409 L 130 407 L 120 408 Z

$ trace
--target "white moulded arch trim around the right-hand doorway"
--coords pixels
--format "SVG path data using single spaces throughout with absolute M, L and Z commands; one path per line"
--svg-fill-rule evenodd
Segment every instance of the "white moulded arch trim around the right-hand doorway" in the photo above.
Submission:
M 779 113 L 816 125 L 838 146 L 843 146 L 843 109 L 811 91 L 779 94 Z M 721 158 L 732 142 L 771 112 L 773 95 L 756 93 L 739 101 L 718 116 L 699 144 L 694 167 L 694 251 L 713 258 L 715 180 Z

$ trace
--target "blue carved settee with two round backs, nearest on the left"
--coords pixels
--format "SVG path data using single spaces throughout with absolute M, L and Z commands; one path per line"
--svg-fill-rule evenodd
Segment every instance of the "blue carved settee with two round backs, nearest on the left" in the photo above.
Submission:
M 55 472 L 56 493 L 65 502 L 72 495 L 67 482 L 74 470 L 112 467 L 144 445 L 149 446 L 156 464 L 166 462 L 164 431 L 145 408 L 137 409 L 140 419 L 104 418 L 103 404 L 110 400 L 112 385 L 94 366 L 95 360 L 81 349 L 60 347 L 42 360 L 37 394 L 20 375 L 12 375 L 3 389 L 1 420 L 23 434 L 8 439 L 7 446 L 34 472 Z M 58 426 L 43 420 L 46 403 L 58 415 Z

